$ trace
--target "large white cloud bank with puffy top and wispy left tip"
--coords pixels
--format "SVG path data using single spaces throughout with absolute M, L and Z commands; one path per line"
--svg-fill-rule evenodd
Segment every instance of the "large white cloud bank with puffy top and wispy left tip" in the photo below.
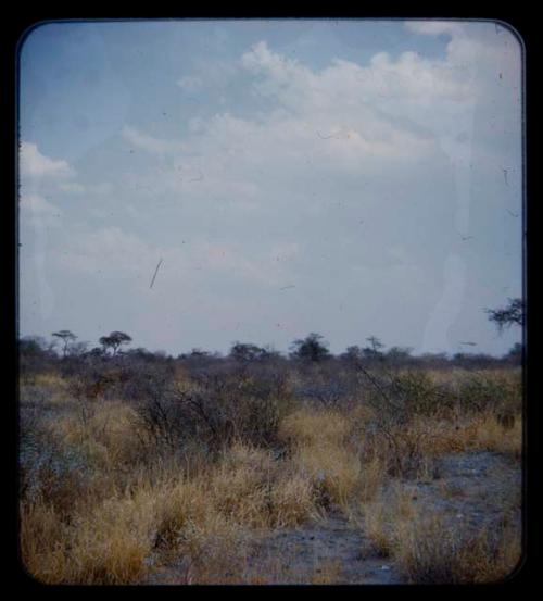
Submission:
M 214 173 L 223 185 L 239 172 L 251 180 L 258 168 L 303 173 L 306 162 L 339 174 L 371 172 L 384 162 L 390 168 L 390 161 L 413 164 L 435 152 L 443 123 L 454 128 L 475 93 L 462 66 L 415 52 L 396 60 L 378 53 L 366 66 L 334 60 L 313 71 L 261 41 L 242 54 L 240 65 L 254 77 L 255 99 L 274 101 L 272 110 L 253 118 L 224 112 L 192 121 L 185 143 L 123 130 L 130 143 L 177 155 L 177 171 L 195 174 L 175 174 L 173 186 L 199 179 L 202 172 L 207 187 Z M 198 165 L 194 155 L 203 159 Z

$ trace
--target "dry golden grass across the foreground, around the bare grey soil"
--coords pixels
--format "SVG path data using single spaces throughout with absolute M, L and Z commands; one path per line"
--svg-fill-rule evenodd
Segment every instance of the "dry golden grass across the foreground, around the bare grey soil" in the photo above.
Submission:
M 462 384 L 469 375 L 429 376 Z M 517 375 L 489 377 L 500 383 Z M 248 569 L 251 533 L 295 527 L 330 506 L 348 516 L 362 513 L 375 550 L 392 556 L 409 581 L 492 581 L 519 559 L 518 529 L 510 524 L 493 536 L 481 531 L 460 540 L 446 516 L 421 514 L 406 488 L 382 494 L 397 458 L 416 459 L 411 477 L 419 480 L 432 479 L 433 459 L 444 453 L 520 458 L 518 411 L 513 427 L 491 409 L 454 420 L 414 415 L 387 438 L 370 434 L 375 409 L 363 404 L 349 412 L 302 408 L 279 425 L 280 459 L 242 440 L 211 458 L 198 445 L 182 453 L 153 449 L 135 410 L 121 399 L 73 399 L 67 384 L 51 374 L 36 376 L 31 386 L 47 388 L 48 402 L 62 408 L 43 425 L 46 438 L 76 451 L 86 466 L 81 474 L 52 473 L 36 494 L 21 499 L 22 558 L 40 581 L 141 583 L 176 559 L 177 577 L 187 584 L 334 584 L 341 566 L 333 562 L 303 574 L 272 559 L 260 572 Z

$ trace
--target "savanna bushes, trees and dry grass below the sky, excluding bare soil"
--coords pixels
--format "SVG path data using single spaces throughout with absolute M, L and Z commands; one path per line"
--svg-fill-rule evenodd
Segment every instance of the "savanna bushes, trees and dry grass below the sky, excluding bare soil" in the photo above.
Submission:
M 236 342 L 173 358 L 130 341 L 20 341 L 21 559 L 39 581 L 341 583 L 333 562 L 254 559 L 332 515 L 399 581 L 495 581 L 518 563 L 520 487 L 497 474 L 492 519 L 459 522 L 470 492 L 446 465 L 519 471 L 520 347 L 414 356 L 370 337 L 334 356 L 311 334 L 289 356 Z

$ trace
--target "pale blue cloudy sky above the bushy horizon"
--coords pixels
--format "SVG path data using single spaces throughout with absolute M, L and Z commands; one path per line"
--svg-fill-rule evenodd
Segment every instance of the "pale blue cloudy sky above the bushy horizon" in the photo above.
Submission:
M 506 353 L 484 309 L 522 293 L 521 72 L 494 22 L 39 25 L 20 336 Z

